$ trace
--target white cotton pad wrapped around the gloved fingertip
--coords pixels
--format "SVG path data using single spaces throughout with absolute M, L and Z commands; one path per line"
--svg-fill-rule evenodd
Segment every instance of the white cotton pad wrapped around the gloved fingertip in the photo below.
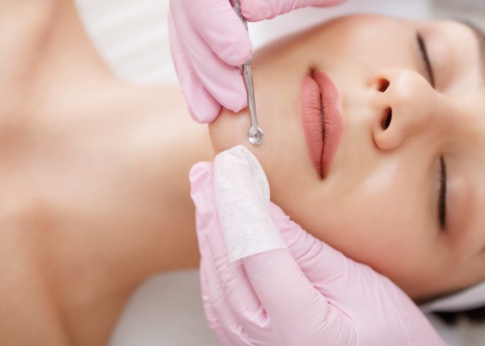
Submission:
M 214 159 L 214 194 L 229 260 L 288 248 L 270 217 L 270 185 L 243 145 Z

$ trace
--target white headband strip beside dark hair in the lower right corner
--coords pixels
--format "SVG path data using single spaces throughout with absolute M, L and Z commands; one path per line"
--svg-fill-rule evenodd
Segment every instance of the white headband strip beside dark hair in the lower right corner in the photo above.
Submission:
M 485 307 L 485 281 L 475 284 L 464 291 L 454 293 L 421 305 L 424 312 L 464 311 Z

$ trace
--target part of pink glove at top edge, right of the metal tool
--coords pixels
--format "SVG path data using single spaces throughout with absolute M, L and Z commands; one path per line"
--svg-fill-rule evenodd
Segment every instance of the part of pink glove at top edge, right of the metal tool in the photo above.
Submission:
M 346 0 L 241 0 L 241 12 L 248 21 L 272 19 L 308 6 L 335 6 Z

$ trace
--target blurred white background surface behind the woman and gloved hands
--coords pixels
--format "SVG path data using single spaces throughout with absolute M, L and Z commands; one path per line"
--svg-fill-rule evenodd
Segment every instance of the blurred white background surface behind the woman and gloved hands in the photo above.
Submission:
M 166 17 L 168 0 L 76 0 L 85 28 L 120 78 L 140 83 L 175 84 Z M 485 24 L 485 0 L 350 0 L 333 9 L 307 8 L 250 24 L 257 48 L 270 39 L 352 12 L 378 12 L 416 19 L 453 17 Z M 432 317 L 431 317 L 432 318 Z M 456 327 L 432 321 L 450 343 L 485 345 L 484 325 L 461 320 Z M 111 346 L 217 345 L 206 327 L 197 271 L 158 275 L 147 280 L 127 304 Z

